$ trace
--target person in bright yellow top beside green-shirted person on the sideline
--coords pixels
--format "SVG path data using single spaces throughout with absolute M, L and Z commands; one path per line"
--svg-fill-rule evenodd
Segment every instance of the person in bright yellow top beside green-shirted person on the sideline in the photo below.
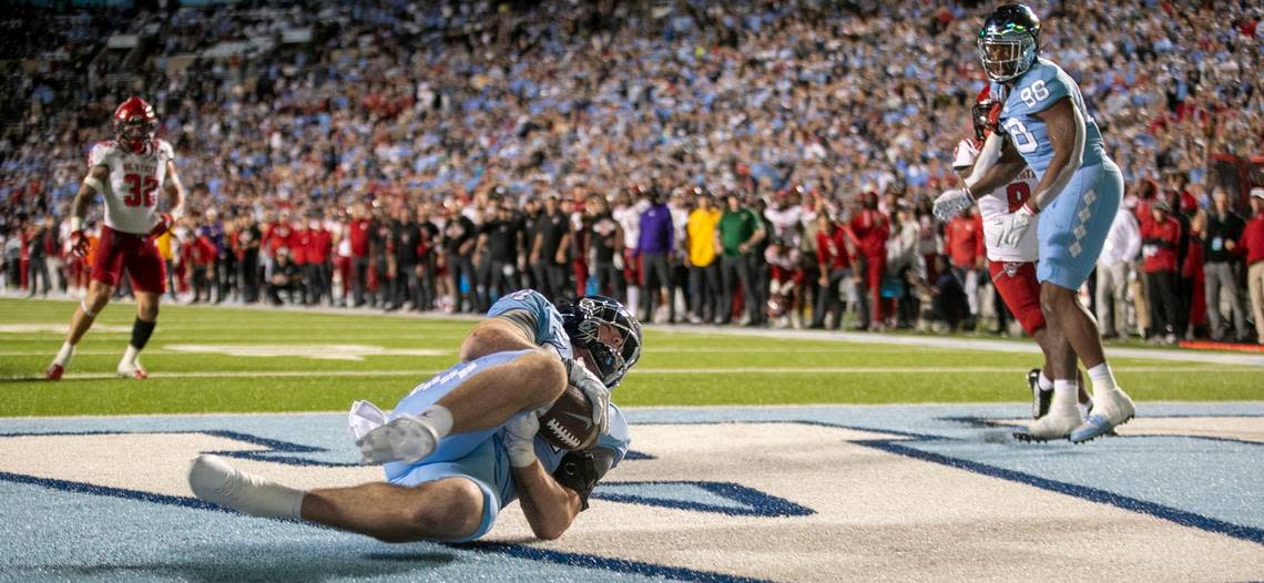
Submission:
M 699 191 L 698 207 L 689 212 L 685 224 L 686 249 L 689 250 L 689 296 L 693 298 L 693 312 L 689 321 L 720 321 L 724 314 L 720 309 L 720 273 L 715 253 L 715 225 L 720 211 L 712 204 L 707 191 Z

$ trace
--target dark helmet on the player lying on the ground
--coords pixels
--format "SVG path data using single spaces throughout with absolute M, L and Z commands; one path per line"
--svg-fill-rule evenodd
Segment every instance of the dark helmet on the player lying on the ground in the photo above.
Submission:
M 641 322 L 622 304 L 605 296 L 584 296 L 557 306 L 571 344 L 586 349 L 598 377 L 613 388 L 641 359 Z M 604 331 L 602 326 L 608 326 Z M 619 339 L 613 345 L 612 334 Z

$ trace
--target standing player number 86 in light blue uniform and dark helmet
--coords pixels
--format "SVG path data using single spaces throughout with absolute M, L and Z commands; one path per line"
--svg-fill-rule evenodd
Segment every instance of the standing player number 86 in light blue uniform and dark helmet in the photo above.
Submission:
M 1044 311 L 1054 373 L 1049 414 L 1015 433 L 1024 440 L 1068 438 L 1087 441 L 1133 417 L 1133 401 L 1106 363 L 1093 316 L 1076 297 L 1101 254 L 1119 211 L 1124 180 L 1102 148 L 1101 133 L 1085 107 L 1076 82 L 1039 57 L 1040 19 L 1021 4 L 997 8 L 978 33 L 978 57 L 1004 99 L 999 129 L 983 145 L 966 187 L 935 200 L 937 216 L 952 216 L 991 193 L 1024 167 L 1039 185 L 1018 211 L 996 219 L 999 240 L 1014 247 L 1036 228 L 1040 259 L 1040 307 Z M 1093 384 L 1093 407 L 1086 419 L 1076 406 L 1076 355 Z

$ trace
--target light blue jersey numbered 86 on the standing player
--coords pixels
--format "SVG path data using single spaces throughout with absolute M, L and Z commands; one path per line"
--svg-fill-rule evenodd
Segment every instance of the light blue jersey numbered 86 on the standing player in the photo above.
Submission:
M 1001 110 L 1001 128 L 1009 134 L 1014 148 L 1019 150 L 1019 154 L 1023 154 L 1023 159 L 1035 171 L 1036 176 L 1044 177 L 1044 171 L 1049 167 L 1049 161 L 1053 159 L 1053 143 L 1049 142 L 1049 132 L 1044 121 L 1035 114 L 1068 96 L 1071 105 L 1079 110 L 1079 115 L 1085 118 L 1085 156 L 1079 167 L 1101 164 L 1105 157 L 1102 134 L 1097 129 L 1097 123 L 1085 109 L 1085 99 L 1079 95 L 1079 86 L 1062 67 L 1038 58 L 1007 92 L 1005 107 Z

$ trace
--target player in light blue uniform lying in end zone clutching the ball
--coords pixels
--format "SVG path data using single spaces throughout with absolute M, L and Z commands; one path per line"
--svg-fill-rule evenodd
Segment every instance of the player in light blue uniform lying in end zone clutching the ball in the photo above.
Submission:
M 263 517 L 300 519 L 384 541 L 466 541 L 514 500 L 541 539 L 588 507 L 597 481 L 627 454 L 627 422 L 609 402 L 641 354 L 641 324 L 618 302 L 583 297 L 561 310 L 522 290 L 465 338 L 461 362 L 413 388 L 388 415 L 356 401 L 351 429 L 387 482 L 302 491 L 214 455 L 190 469 L 198 498 Z M 574 451 L 538 436 L 537 415 L 566 386 L 593 402 L 600 427 Z

